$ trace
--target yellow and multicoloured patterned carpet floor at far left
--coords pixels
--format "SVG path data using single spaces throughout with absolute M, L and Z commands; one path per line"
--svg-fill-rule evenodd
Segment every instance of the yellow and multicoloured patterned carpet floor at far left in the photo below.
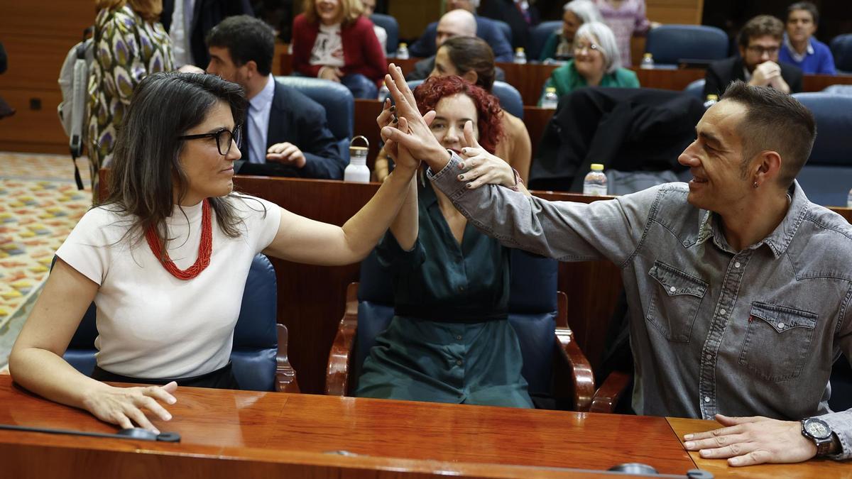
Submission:
M 0 368 L 56 249 L 91 205 L 88 159 L 78 165 L 84 191 L 70 156 L 0 152 Z

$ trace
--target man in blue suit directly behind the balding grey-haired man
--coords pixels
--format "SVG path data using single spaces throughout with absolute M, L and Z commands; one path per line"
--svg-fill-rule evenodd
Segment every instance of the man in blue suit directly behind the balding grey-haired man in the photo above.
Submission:
M 473 15 L 473 19 L 475 20 L 475 28 L 468 36 L 482 38 L 486 41 L 486 43 L 491 45 L 491 49 L 494 50 L 494 61 L 512 61 L 512 45 L 509 44 L 509 40 L 504 36 L 504 33 L 500 31 L 500 27 L 497 22 L 476 15 L 475 9 L 478 5 L 478 0 L 451 0 L 448 2 L 447 13 L 440 17 L 440 21 L 432 22 L 426 26 L 426 30 L 423 31 L 423 35 L 417 39 L 417 42 L 412 43 L 412 45 L 408 47 L 408 52 L 412 56 L 422 58 L 434 56 L 438 51 L 438 47 L 440 47 L 440 43 L 444 43 L 444 40 L 448 38 L 446 37 L 446 27 L 449 26 L 449 24 L 445 21 L 446 15 L 452 14 L 458 10 L 465 10 Z M 458 19 L 453 20 L 455 23 Z M 444 26 L 444 38 L 441 38 L 441 26 Z

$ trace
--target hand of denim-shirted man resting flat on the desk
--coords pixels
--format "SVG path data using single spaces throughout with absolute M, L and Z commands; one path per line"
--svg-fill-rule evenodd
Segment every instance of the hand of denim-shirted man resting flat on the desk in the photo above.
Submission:
M 728 459 L 728 465 L 796 463 L 816 455 L 816 445 L 802 436 L 802 423 L 754 416 L 729 418 L 716 415 L 727 427 L 683 436 L 688 451 L 704 459 Z

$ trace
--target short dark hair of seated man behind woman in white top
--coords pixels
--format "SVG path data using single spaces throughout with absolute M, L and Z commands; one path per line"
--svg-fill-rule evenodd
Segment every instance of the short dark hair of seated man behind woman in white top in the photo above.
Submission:
M 236 66 L 254 61 L 261 75 L 272 72 L 275 32 L 263 20 L 250 15 L 227 17 L 207 33 L 207 46 L 227 49 Z

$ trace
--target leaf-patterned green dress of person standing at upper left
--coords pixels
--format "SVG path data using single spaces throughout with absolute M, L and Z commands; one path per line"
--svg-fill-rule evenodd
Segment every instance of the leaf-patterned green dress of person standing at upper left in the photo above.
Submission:
M 95 18 L 95 61 L 89 73 L 89 168 L 97 200 L 98 170 L 112 160 L 116 130 L 133 89 L 150 73 L 174 69 L 169 34 L 130 5 L 102 9 Z

